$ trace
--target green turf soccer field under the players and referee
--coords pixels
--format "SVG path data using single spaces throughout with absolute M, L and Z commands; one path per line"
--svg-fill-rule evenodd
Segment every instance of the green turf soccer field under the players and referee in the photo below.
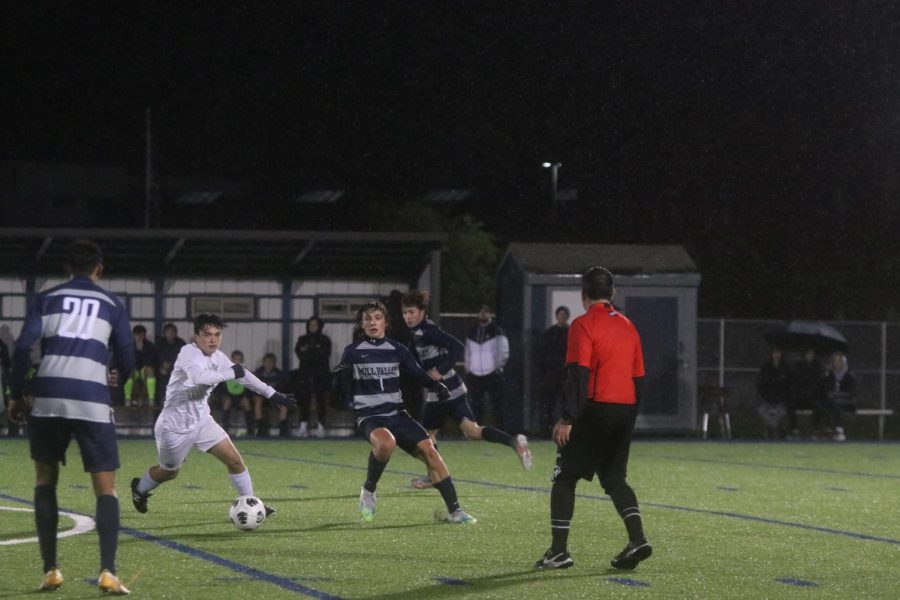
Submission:
M 420 463 L 395 455 L 378 513 L 357 512 L 362 440 L 238 440 L 256 493 L 278 514 L 251 533 L 227 520 L 234 496 L 215 459 L 191 454 L 156 490 L 150 512 L 128 482 L 155 460 L 152 440 L 122 440 L 119 575 L 145 598 L 898 598 L 900 444 L 638 441 L 629 480 L 654 554 L 635 571 L 609 567 L 625 542 L 597 482 L 579 484 L 569 549 L 575 566 L 536 571 L 549 546 L 554 449 L 533 444 L 523 471 L 496 444 L 441 444 L 471 526 L 437 523 L 434 490 L 415 491 Z M 60 507 L 93 514 L 73 446 Z M 24 440 L 0 441 L 0 597 L 31 596 L 41 577 L 28 509 Z M 73 527 L 62 518 L 60 529 Z M 97 596 L 94 532 L 60 541 L 57 597 Z

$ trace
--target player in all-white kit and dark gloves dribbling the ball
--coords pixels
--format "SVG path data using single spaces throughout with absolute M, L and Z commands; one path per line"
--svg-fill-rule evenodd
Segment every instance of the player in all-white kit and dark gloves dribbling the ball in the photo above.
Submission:
M 275 406 L 296 406 L 290 394 L 276 392 L 240 364 L 234 364 L 219 350 L 225 322 L 218 315 L 203 313 L 194 319 L 194 342 L 178 353 L 166 403 L 156 426 L 159 463 L 147 469 L 143 477 L 131 480 L 131 500 L 138 512 L 147 512 L 150 491 L 175 479 L 191 447 L 208 452 L 228 469 L 231 485 L 238 496 L 255 496 L 250 471 L 231 438 L 216 423 L 209 411 L 209 395 L 223 381 L 236 379 Z M 266 516 L 275 509 L 266 506 Z

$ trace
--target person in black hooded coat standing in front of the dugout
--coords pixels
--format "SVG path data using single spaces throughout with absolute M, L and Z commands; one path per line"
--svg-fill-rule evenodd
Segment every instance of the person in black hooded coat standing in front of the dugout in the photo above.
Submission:
M 323 333 L 325 323 L 317 316 L 306 321 L 306 335 L 297 338 L 294 353 L 300 361 L 297 369 L 297 400 L 300 408 L 300 437 L 309 437 L 309 413 L 316 405 L 313 435 L 325 437 L 325 411 L 331 392 L 331 338 Z

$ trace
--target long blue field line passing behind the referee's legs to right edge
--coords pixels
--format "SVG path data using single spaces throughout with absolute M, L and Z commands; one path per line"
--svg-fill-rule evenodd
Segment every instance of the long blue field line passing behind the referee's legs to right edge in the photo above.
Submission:
M 313 464 L 319 466 L 326 467 L 343 467 L 347 469 L 355 469 L 357 471 L 365 471 L 366 467 L 363 466 L 353 466 L 353 465 L 345 465 L 341 463 L 333 463 L 324 460 L 313 460 L 306 458 L 294 458 L 290 456 L 275 456 L 272 454 L 263 454 L 260 452 L 244 452 L 244 455 L 248 456 L 256 456 L 258 458 L 268 458 L 274 460 L 285 460 L 288 462 L 300 462 L 305 464 Z M 409 476 L 417 476 L 420 475 L 418 472 L 413 471 L 397 471 L 394 469 L 386 471 L 387 473 L 392 473 L 395 475 L 409 475 Z M 550 487 L 537 487 L 537 486 L 529 486 L 529 485 L 512 485 L 506 483 L 497 483 L 495 481 L 480 481 L 477 479 L 460 479 L 457 477 L 453 477 L 453 481 L 458 483 L 468 483 L 472 485 L 480 485 L 483 487 L 497 488 L 503 490 L 518 490 L 523 492 L 537 492 L 542 494 L 549 494 Z M 604 502 L 609 502 L 609 498 L 606 496 L 598 496 L 596 494 L 576 494 L 579 498 L 584 498 L 586 500 L 599 500 Z M 728 517 L 731 519 L 741 519 L 744 521 L 755 521 L 757 523 L 766 523 L 769 525 L 782 525 L 784 527 L 794 527 L 797 529 L 805 529 L 808 531 L 817 531 L 819 533 L 829 533 L 832 535 L 842 535 L 846 537 L 855 538 L 858 540 L 867 540 L 872 542 L 884 542 L 886 544 L 894 544 L 900 546 L 900 540 L 896 540 L 888 537 L 881 537 L 877 535 L 869 535 L 866 533 L 858 533 L 855 531 L 845 531 L 842 529 L 831 529 L 830 527 L 819 527 L 816 525 L 806 525 L 804 523 L 794 523 L 792 521 L 780 521 L 778 519 L 769 519 L 767 517 L 756 517 L 753 515 L 745 515 L 736 512 L 728 512 L 728 511 L 720 511 L 720 510 L 710 510 L 706 508 L 692 508 L 690 506 L 678 506 L 675 504 L 662 504 L 659 502 L 641 502 L 641 506 L 652 506 L 654 508 L 663 508 L 666 510 L 677 510 L 682 512 L 691 512 L 705 515 L 714 515 L 717 517 Z

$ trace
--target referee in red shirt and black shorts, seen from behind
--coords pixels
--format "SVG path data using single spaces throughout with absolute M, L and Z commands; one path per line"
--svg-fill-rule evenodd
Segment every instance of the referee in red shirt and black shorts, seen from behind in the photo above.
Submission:
M 565 406 L 553 428 L 558 446 L 550 494 L 553 543 L 535 564 L 538 568 L 575 564 L 567 547 L 575 485 L 582 478 L 591 481 L 595 473 L 628 531 L 628 544 L 610 564 L 633 569 L 653 551 L 644 537 L 637 496 L 625 481 L 644 357 L 634 324 L 611 304 L 614 293 L 607 269 L 592 267 L 582 275 L 587 312 L 569 328 Z

